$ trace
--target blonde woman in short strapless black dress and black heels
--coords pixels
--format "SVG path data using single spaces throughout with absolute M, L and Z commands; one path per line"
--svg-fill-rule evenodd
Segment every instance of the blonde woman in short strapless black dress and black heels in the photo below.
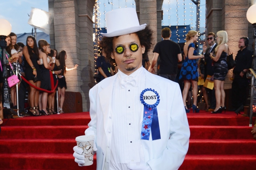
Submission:
M 218 31 L 217 33 L 217 47 L 215 49 L 215 54 L 210 53 L 211 59 L 214 61 L 214 90 L 216 97 L 216 108 L 212 113 L 221 113 L 225 109 L 225 91 L 224 91 L 224 81 L 228 74 L 228 34 L 226 31 Z

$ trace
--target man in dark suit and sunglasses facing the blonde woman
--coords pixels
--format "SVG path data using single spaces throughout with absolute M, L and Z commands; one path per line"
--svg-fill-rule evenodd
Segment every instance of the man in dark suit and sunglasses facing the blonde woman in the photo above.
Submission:
M 204 44 L 203 46 L 203 53 L 204 53 L 204 81 L 206 80 L 207 75 L 212 76 L 213 79 L 213 64 L 210 57 L 210 53 L 214 53 L 215 48 L 217 47 L 217 44 L 215 42 L 216 35 L 214 33 L 209 33 L 207 36 L 207 43 L 209 44 L 209 47 L 207 48 L 207 45 Z M 207 106 L 206 108 L 209 108 L 209 112 L 213 111 L 216 107 L 216 98 L 215 98 L 215 91 L 214 88 L 211 90 L 209 88 L 206 88 L 206 91 L 208 93 L 208 98 L 210 101 L 210 107 Z

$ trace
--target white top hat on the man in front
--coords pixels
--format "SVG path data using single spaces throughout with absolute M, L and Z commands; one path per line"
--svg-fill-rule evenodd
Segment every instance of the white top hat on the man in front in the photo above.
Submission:
M 144 30 L 147 24 L 140 26 L 139 19 L 134 8 L 119 8 L 106 13 L 107 33 L 101 33 L 104 37 L 116 37 L 136 33 Z

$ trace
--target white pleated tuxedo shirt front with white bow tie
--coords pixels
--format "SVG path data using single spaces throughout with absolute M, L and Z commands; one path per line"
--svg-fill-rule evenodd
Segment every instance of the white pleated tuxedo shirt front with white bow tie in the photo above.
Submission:
M 109 170 L 151 170 L 144 161 L 140 142 L 144 109 L 140 93 L 145 89 L 145 69 L 141 67 L 129 76 L 120 70 L 117 74 L 111 107 L 111 148 L 107 154 L 110 155 Z

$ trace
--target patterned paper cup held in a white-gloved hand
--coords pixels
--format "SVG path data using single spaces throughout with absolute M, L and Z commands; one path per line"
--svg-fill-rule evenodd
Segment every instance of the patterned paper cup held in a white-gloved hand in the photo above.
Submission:
M 92 165 L 93 163 L 93 140 L 93 135 L 76 137 L 77 146 L 83 149 L 83 156 L 85 156 L 85 164 L 83 166 Z

